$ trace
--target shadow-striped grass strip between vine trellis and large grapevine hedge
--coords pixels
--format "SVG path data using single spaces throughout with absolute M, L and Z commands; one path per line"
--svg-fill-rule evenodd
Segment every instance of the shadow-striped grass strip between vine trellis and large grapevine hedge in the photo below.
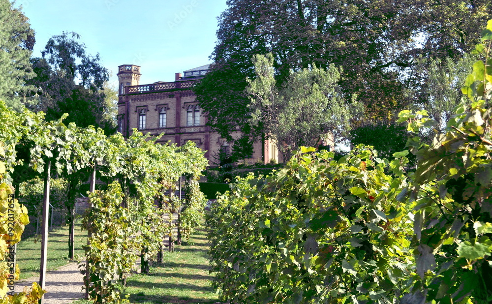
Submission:
M 211 287 L 204 231 L 197 231 L 187 245 L 165 252 L 163 263 L 151 266 L 150 275 L 128 278 L 125 293 L 131 303 L 139 304 L 213 304 L 218 301 Z M 90 304 L 79 300 L 72 304 Z

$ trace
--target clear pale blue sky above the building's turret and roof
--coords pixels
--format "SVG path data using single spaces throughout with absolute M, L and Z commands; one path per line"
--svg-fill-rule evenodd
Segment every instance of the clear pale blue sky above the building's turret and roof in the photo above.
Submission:
M 117 81 L 118 65 L 140 65 L 140 84 L 174 81 L 210 63 L 226 0 L 17 0 L 36 31 L 33 56 L 53 35 L 75 31 Z

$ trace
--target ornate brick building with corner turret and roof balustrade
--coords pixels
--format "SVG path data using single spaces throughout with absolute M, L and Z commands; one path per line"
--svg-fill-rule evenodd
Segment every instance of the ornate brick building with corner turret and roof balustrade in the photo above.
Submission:
M 213 156 L 221 147 L 229 149 L 229 143 L 207 126 L 203 110 L 196 102 L 193 86 L 207 73 L 209 65 L 199 66 L 176 73 L 174 82 L 155 82 L 140 85 L 140 66 L 124 64 L 118 68 L 118 131 L 123 136 L 131 135 L 137 128 L 143 133 L 158 135 L 164 133 L 158 142 L 170 141 L 178 146 L 187 141 L 206 151 L 209 165 L 214 165 Z M 239 132 L 232 134 L 234 138 Z M 268 163 L 281 157 L 276 146 L 266 141 L 254 143 L 253 156 L 248 162 Z M 211 161 L 212 160 L 212 161 Z

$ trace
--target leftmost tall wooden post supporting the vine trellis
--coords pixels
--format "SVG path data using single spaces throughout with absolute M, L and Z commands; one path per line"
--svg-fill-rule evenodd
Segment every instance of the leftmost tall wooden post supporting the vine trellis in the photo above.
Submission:
M 46 287 L 46 257 L 48 253 L 48 215 L 50 208 L 50 179 L 51 161 L 48 160 L 44 166 L 44 196 L 43 196 L 43 216 L 41 228 L 41 269 L 39 271 L 39 286 Z M 44 303 L 44 295 L 39 299 L 39 304 Z

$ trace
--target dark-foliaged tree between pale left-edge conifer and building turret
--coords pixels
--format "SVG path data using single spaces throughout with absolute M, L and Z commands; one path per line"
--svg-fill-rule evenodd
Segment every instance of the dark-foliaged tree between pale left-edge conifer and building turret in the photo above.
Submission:
M 41 54 L 41 58 L 31 60 L 37 75 L 31 84 L 39 91 L 39 102 L 33 109 L 45 111 L 47 120 L 57 120 L 68 113 L 65 123 L 114 132 L 114 118 L 108 115 L 113 109 L 108 109 L 104 90 L 109 72 L 100 63 L 99 54 L 87 54 L 75 32 L 53 36 Z

